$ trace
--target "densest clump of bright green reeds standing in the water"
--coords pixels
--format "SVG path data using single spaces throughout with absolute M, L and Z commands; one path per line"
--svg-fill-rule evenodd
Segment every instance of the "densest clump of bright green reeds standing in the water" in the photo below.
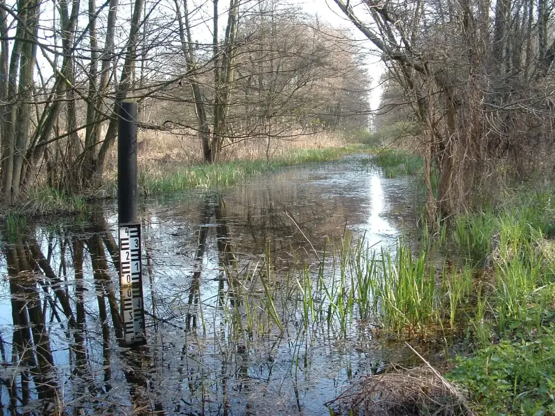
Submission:
M 321 270 L 318 287 L 329 302 L 327 322 L 335 317 L 342 333 L 355 311 L 360 319 L 379 323 L 382 331 L 397 336 L 425 336 L 441 327 L 445 318 L 454 328 L 457 313 L 472 291 L 472 268 L 459 270 L 445 264 L 443 284 L 438 285 L 428 251 L 413 254 L 404 241 L 394 252 L 382 250 L 377 255 L 364 249 L 361 240 L 344 238 L 332 255 L 332 278 L 324 279 Z M 305 280 L 309 279 L 307 274 Z

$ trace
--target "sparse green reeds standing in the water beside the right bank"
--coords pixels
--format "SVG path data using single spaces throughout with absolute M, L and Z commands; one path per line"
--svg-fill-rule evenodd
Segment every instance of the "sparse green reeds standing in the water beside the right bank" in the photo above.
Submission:
M 248 336 L 293 324 L 296 330 L 332 330 L 348 338 L 361 322 L 400 338 L 437 336 L 442 320 L 455 326 L 471 286 L 468 270 L 445 266 L 438 276 L 426 252 L 414 254 L 403 241 L 394 251 L 375 252 L 362 239 L 345 237 L 323 251 L 318 265 L 305 264 L 282 277 L 270 264 L 268 255 L 243 277 L 228 275 L 228 281 L 241 282 L 233 285 L 242 305 L 233 313 L 241 322 L 233 327 Z

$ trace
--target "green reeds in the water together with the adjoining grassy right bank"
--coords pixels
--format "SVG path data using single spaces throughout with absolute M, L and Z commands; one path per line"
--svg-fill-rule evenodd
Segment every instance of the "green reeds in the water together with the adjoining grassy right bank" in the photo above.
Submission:
M 266 312 L 247 312 L 241 328 L 302 322 L 300 333 L 325 328 L 347 338 L 362 324 L 378 338 L 439 340 L 454 366 L 449 379 L 468 390 L 477 414 L 552 414 L 555 241 L 546 233 L 555 207 L 549 190 L 508 197 L 510 205 L 454 218 L 450 230 L 439 223 L 435 234 L 391 252 L 346 235 L 319 266 L 290 271 L 273 289 L 266 267 L 264 296 L 253 304 L 252 286 L 244 293 L 250 311 Z M 452 349 L 456 340 L 466 347 Z

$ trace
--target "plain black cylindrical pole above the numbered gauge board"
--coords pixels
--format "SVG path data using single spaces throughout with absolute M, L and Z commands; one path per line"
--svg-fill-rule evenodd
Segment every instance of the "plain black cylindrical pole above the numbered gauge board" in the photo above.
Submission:
M 119 103 L 117 138 L 117 205 L 119 223 L 137 222 L 137 113 L 136 101 Z

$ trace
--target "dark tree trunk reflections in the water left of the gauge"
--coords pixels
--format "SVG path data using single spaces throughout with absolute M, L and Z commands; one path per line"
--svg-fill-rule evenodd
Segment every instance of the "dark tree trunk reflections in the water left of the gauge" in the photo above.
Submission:
M 123 365 L 133 414 L 151 415 L 153 411 L 162 410 L 160 404 L 151 403 L 146 392 L 148 359 L 145 354 L 111 347 L 114 336 L 121 339 L 122 328 L 106 250 L 117 255 L 117 244 L 101 211 L 95 210 L 90 219 L 89 225 L 76 227 L 73 230 L 75 234 L 60 233 L 56 243 L 53 243 L 55 239 L 50 233 L 46 255 L 40 246 L 40 241 L 44 241 L 42 234 L 35 238 L 26 236 L 28 232 L 25 230 L 18 230 L 6 241 L 4 252 L 13 340 L 10 346 L 2 339 L 0 352 L 4 367 L 10 368 L 10 372 L 2 376 L 10 397 L 9 403 L 3 402 L 3 405 L 12 414 L 19 413 L 24 407 L 25 413 L 36 415 L 73 413 L 78 408 L 87 411 L 96 408 L 102 413 L 118 412 L 117 408 L 126 405 L 121 403 L 121 399 L 110 402 L 110 390 L 117 382 L 112 379 L 114 351 Z M 85 261 L 87 252 L 89 265 Z M 66 259 L 68 253 L 72 257 L 70 263 Z M 54 265 L 56 257 L 59 273 Z M 74 276 L 67 273 L 68 264 L 74 270 Z M 92 270 L 96 311 L 90 304 L 91 297 L 87 295 L 91 282 L 85 270 Z M 71 287 L 74 288 L 73 294 Z M 92 318 L 89 324 L 87 315 Z M 98 332 L 94 322 L 97 320 L 101 327 L 101 340 L 95 338 Z M 69 348 L 62 349 L 62 352 L 67 352 L 65 358 L 58 352 L 55 360 L 52 337 L 56 348 L 59 348 L 60 342 L 68 343 Z M 95 347 L 98 344 L 101 345 L 101 380 L 95 374 L 99 372 L 98 366 L 93 368 L 97 364 Z M 8 361 L 7 354 L 10 352 L 11 359 Z M 59 360 L 61 362 L 57 363 Z M 70 374 L 62 370 L 67 366 Z M 71 384 L 67 385 L 66 377 Z M 66 401 L 69 401 L 69 406 Z

